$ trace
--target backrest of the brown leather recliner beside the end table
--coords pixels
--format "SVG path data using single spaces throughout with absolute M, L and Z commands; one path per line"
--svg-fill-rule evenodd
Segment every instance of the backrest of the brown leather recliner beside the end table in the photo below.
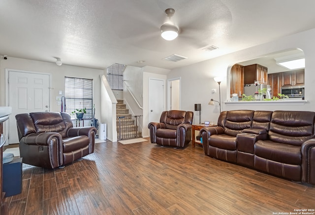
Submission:
M 191 111 L 170 110 L 163 111 L 160 123 L 164 123 L 168 129 L 176 129 L 181 123 L 192 124 L 193 113 Z

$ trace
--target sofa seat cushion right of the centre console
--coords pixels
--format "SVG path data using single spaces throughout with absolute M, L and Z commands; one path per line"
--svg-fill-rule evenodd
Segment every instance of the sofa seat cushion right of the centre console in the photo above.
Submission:
M 270 140 L 258 140 L 254 145 L 254 154 L 268 160 L 281 163 L 301 165 L 301 147 L 276 143 Z

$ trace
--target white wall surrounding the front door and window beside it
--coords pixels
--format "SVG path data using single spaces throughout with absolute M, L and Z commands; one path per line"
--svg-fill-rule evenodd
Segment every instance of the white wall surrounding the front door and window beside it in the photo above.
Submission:
M 95 118 L 100 117 L 100 78 L 99 75 L 103 75 L 104 71 L 100 69 L 92 69 L 71 65 L 58 66 L 54 62 L 32 61 L 20 58 L 8 57 L 7 60 L 0 60 L 0 106 L 6 106 L 5 103 L 5 69 L 18 69 L 33 72 L 50 73 L 52 78 L 51 90 L 51 111 L 61 111 L 61 106 L 57 104 L 56 96 L 59 95 L 59 91 L 64 95 L 64 76 L 80 77 L 80 78 L 92 78 L 94 80 L 94 103 L 95 103 Z M 14 116 L 10 116 L 14 117 Z

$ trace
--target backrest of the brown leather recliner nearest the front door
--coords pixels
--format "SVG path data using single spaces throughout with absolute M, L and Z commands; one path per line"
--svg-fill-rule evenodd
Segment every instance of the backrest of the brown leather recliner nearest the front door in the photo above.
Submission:
M 19 140 L 31 133 L 58 132 L 62 137 L 67 136 L 67 129 L 72 127 L 70 116 L 58 112 L 33 112 L 15 116 Z

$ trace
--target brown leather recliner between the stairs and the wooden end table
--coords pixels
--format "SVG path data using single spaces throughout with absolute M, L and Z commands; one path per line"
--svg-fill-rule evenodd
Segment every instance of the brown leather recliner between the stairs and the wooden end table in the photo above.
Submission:
M 149 123 L 151 143 L 161 146 L 184 147 L 191 141 L 191 111 L 163 111 L 159 123 Z

